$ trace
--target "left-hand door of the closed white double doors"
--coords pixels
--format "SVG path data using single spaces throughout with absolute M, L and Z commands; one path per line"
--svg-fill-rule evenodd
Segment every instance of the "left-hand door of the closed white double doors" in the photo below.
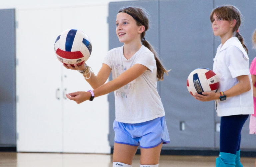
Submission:
M 16 12 L 17 151 L 60 152 L 61 64 L 53 49 L 60 10 Z

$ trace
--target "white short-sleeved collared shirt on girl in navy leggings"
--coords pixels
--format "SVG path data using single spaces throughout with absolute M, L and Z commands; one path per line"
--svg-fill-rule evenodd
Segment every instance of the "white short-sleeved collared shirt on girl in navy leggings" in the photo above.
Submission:
M 242 94 L 227 97 L 226 100 L 215 100 L 218 116 L 253 114 L 252 80 L 249 71 L 249 58 L 242 44 L 236 37 L 219 45 L 213 59 L 213 71 L 219 78 L 218 91 L 226 91 L 238 83 L 236 77 L 249 75 L 251 90 Z

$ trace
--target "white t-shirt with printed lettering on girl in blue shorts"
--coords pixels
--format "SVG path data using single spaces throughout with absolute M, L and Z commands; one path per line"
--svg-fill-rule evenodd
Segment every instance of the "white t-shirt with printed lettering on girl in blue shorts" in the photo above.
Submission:
M 123 50 L 124 46 L 110 50 L 103 61 L 111 68 L 113 80 L 134 64 L 141 64 L 148 69 L 132 82 L 114 91 L 116 121 L 140 123 L 164 116 L 163 105 L 156 89 L 156 63 L 153 53 L 142 45 L 127 60 Z

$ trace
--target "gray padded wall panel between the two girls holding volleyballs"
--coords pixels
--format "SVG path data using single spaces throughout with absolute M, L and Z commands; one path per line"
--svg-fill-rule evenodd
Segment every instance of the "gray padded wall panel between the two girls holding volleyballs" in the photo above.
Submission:
M 195 100 L 186 88 L 187 77 L 194 69 L 212 69 L 213 33 L 209 16 L 205 14 L 212 10 L 212 2 L 159 2 L 160 53 L 165 66 L 171 68 L 170 76 L 160 87 L 171 137 L 168 146 L 213 148 L 214 102 Z M 180 130 L 181 121 L 185 122 L 184 131 Z

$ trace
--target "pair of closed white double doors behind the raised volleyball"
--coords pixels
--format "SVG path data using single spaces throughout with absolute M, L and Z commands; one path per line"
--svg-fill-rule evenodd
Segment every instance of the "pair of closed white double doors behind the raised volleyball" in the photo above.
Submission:
M 98 16 L 98 11 L 103 14 Z M 77 104 L 66 93 L 92 89 L 54 54 L 66 29 L 91 38 L 88 65 L 97 74 L 108 51 L 107 5 L 17 10 L 17 151 L 110 153 L 107 95 Z

